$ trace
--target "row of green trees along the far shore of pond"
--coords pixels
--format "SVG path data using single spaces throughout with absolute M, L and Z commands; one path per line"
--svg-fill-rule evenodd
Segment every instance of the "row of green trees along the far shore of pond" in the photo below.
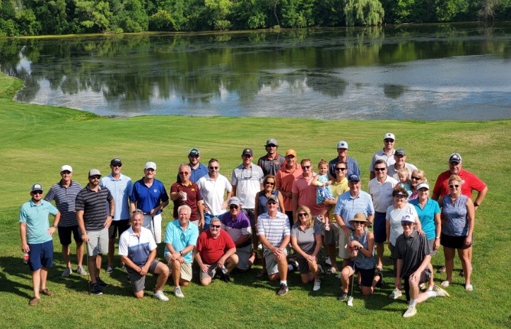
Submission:
M 0 37 L 511 18 L 511 0 L 0 0 Z

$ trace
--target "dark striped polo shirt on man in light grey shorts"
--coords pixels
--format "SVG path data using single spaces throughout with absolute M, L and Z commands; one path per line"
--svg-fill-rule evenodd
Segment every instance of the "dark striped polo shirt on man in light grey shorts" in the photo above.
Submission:
M 76 210 L 83 210 L 83 222 L 87 231 L 99 231 L 105 228 L 107 219 L 107 202 L 113 199 L 106 187 L 98 186 L 98 192 L 82 189 L 76 196 Z

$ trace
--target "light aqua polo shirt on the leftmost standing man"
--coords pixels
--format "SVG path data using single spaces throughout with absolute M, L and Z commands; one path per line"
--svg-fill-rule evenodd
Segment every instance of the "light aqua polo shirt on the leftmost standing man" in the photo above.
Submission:
M 45 200 L 36 205 L 32 199 L 23 203 L 20 208 L 19 222 L 27 224 L 27 243 L 42 244 L 52 240 L 52 236 L 48 235 L 49 222 L 48 215 L 57 215 L 57 208 Z

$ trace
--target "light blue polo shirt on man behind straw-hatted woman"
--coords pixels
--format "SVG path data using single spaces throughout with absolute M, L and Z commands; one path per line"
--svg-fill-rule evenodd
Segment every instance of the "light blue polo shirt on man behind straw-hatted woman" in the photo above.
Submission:
M 348 221 L 353 220 L 356 213 L 363 213 L 366 216 L 375 213 L 369 193 L 359 191 L 355 197 L 351 196 L 350 191 L 342 193 L 337 199 L 334 214 L 341 216 L 348 229 L 353 229 Z

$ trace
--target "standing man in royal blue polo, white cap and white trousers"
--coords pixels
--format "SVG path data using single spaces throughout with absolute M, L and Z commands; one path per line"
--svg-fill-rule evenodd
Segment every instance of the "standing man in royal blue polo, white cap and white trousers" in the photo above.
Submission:
M 131 193 L 131 212 L 135 209 L 143 211 L 143 227 L 151 229 L 157 244 L 161 242 L 161 211 L 168 205 L 169 197 L 165 186 L 155 179 L 156 164 L 146 162 L 143 178 L 136 181 Z

